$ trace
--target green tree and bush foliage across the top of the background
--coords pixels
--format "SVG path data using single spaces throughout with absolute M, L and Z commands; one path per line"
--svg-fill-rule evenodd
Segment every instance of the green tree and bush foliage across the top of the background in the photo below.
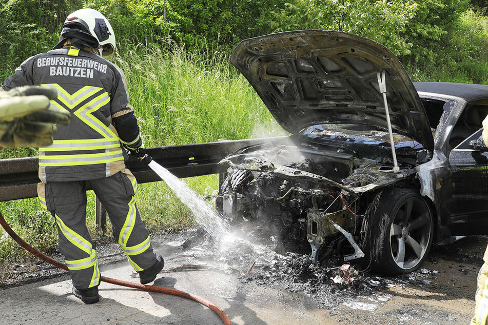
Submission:
M 458 64 L 470 74 L 473 62 L 488 60 L 488 0 L 0 0 L 0 78 L 49 50 L 80 8 L 107 16 L 122 53 L 150 43 L 230 53 L 240 40 L 274 31 L 331 29 L 376 40 L 418 69 Z

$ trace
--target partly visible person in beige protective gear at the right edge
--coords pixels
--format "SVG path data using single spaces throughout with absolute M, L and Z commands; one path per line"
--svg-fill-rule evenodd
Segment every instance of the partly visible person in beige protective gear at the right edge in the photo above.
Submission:
M 482 138 L 484 145 L 488 147 L 488 116 L 483 120 Z M 484 252 L 483 261 L 476 280 L 478 288 L 475 295 L 475 315 L 471 319 L 472 325 L 485 325 L 488 318 L 488 246 Z

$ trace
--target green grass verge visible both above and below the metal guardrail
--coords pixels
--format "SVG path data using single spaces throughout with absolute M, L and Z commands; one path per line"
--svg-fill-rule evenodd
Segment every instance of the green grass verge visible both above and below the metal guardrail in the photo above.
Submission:
M 206 58 L 204 58 L 206 57 Z M 147 147 L 204 143 L 218 139 L 244 139 L 284 134 L 256 92 L 220 53 L 189 55 L 178 48 L 157 47 L 122 53 L 115 61 L 128 79 L 130 104 L 138 116 Z M 0 159 L 36 156 L 36 148 L 0 149 Z M 216 195 L 218 176 L 186 179 L 202 195 Z M 94 194 L 88 192 L 87 225 L 96 233 Z M 164 182 L 140 184 L 136 200 L 150 231 L 180 231 L 193 225 L 191 212 Z M 0 203 L 12 228 L 33 247 L 50 252 L 57 247 L 54 220 L 36 198 Z M 3 230 L 0 265 L 30 258 Z

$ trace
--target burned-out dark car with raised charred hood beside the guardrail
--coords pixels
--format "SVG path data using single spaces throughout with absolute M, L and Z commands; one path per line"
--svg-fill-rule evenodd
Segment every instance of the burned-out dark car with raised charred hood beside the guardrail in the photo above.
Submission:
M 391 274 L 488 232 L 488 154 L 470 144 L 488 86 L 412 83 L 387 48 L 336 31 L 247 39 L 230 62 L 291 134 L 221 161 L 230 220 Z

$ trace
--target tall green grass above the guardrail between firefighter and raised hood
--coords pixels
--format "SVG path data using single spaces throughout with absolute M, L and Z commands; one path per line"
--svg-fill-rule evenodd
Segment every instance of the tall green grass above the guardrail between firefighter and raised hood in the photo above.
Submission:
M 219 53 L 205 59 L 181 49 L 124 53 L 116 63 L 129 80 L 132 106 L 149 146 L 242 139 L 276 122 Z M 258 134 L 261 135 L 261 134 Z

